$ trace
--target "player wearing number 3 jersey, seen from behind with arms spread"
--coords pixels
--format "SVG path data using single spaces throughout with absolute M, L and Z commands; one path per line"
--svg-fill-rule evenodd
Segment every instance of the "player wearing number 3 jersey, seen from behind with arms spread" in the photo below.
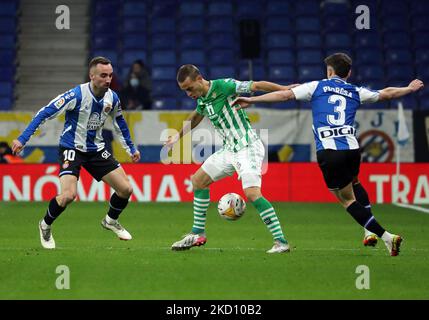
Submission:
M 361 157 L 353 124 L 361 104 L 402 97 L 421 89 L 423 82 L 416 79 L 407 87 L 372 91 L 347 82 L 352 66 L 347 54 L 330 55 L 325 64 L 327 79 L 258 97 L 240 97 L 234 103 L 246 108 L 257 102 L 311 101 L 317 161 L 327 187 L 365 228 L 364 245 L 375 245 L 377 235 L 383 239 L 390 255 L 396 256 L 402 238 L 387 232 L 375 220 L 368 194 L 358 179 Z

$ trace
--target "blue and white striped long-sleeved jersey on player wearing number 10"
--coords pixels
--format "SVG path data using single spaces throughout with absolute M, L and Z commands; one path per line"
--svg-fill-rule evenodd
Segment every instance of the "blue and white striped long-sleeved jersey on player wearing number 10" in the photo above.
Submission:
M 64 112 L 65 123 L 60 137 L 60 146 L 82 152 L 102 150 L 105 143 L 101 132 L 106 118 L 111 117 L 116 136 L 123 148 L 129 155 L 136 151 L 122 116 L 118 95 L 108 89 L 104 97 L 97 99 L 92 93 L 89 82 L 57 96 L 40 109 L 18 140 L 25 145 L 43 122 L 58 117 Z

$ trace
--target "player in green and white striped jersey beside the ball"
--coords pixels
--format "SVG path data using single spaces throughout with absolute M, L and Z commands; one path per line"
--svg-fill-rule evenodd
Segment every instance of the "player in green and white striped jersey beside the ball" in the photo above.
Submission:
M 281 86 L 267 81 L 237 81 L 233 79 L 204 79 L 194 65 L 183 65 L 177 73 L 181 90 L 197 100 L 197 108 L 188 118 L 190 129 L 195 128 L 207 116 L 223 138 L 223 147 L 212 154 L 192 176 L 194 190 L 194 224 L 192 231 L 172 245 L 173 250 L 186 250 L 204 245 L 207 241 L 205 224 L 210 204 L 210 185 L 235 171 L 242 181 L 244 194 L 259 212 L 262 221 L 273 236 L 274 245 L 268 253 L 289 251 L 289 244 L 271 203 L 262 196 L 261 175 L 265 148 L 252 130 L 244 110 L 236 110 L 231 102 L 241 93 L 253 91 L 272 92 L 287 90 L 292 86 Z M 189 126 L 169 137 L 165 145 L 172 148 Z

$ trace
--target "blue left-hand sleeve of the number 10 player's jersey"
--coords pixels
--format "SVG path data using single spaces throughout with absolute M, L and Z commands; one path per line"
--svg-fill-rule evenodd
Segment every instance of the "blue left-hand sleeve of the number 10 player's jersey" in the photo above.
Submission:
M 69 90 L 52 99 L 48 105 L 41 108 L 31 120 L 27 128 L 18 137 L 18 141 L 25 145 L 36 130 L 46 120 L 58 117 L 60 114 L 73 110 L 80 103 L 80 91 L 76 88 Z

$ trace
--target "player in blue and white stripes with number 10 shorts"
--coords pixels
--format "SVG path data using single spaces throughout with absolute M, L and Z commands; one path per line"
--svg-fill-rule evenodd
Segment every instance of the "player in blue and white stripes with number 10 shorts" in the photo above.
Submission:
M 39 222 L 40 241 L 46 249 L 55 248 L 51 225 L 76 198 L 81 167 L 97 181 L 102 180 L 115 190 L 101 225 L 113 231 L 121 240 L 132 239 L 131 234 L 118 222 L 119 214 L 128 204 L 132 187 L 121 165 L 105 149 L 101 133 L 107 117 L 112 118 L 116 135 L 133 162 L 140 160 L 140 152 L 131 141 L 118 95 L 109 89 L 112 75 L 110 60 L 104 57 L 92 59 L 89 63 L 91 81 L 54 98 L 39 110 L 22 134 L 13 141 L 12 151 L 19 153 L 43 122 L 65 113 L 64 130 L 59 142 L 61 191 L 51 199 L 45 217 Z

